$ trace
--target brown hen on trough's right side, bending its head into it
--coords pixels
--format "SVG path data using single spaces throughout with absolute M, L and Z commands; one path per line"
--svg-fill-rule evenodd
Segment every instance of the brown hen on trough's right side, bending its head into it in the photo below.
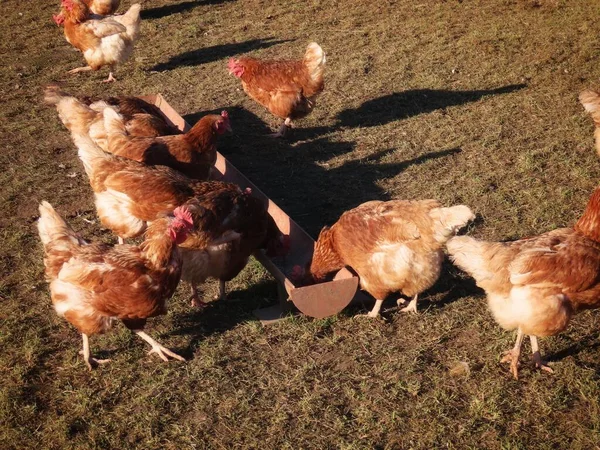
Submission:
M 412 297 L 403 311 L 416 312 L 418 295 L 440 275 L 444 244 L 473 218 L 466 206 L 443 208 L 436 200 L 363 203 L 323 228 L 307 275 L 296 266 L 293 277 L 319 282 L 349 266 L 376 299 L 369 317 L 377 317 L 383 300 L 398 291 Z

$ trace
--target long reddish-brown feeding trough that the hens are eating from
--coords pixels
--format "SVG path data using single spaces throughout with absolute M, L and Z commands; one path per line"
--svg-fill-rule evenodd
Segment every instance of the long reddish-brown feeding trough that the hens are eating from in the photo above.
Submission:
M 156 94 L 140 98 L 159 108 L 167 121 L 181 131 L 185 132 L 191 128 L 162 95 Z M 295 265 L 306 266 L 312 257 L 315 241 L 218 152 L 215 168 L 218 172 L 217 179 L 235 183 L 242 189 L 251 188 L 252 195 L 265 203 L 279 230 L 290 238 L 290 250 L 284 258 L 270 259 L 262 250 L 254 254 L 254 257 L 273 275 L 278 284 L 279 304 L 254 311 L 254 314 L 263 323 L 282 318 L 292 311 L 292 303 L 303 314 L 321 319 L 339 313 L 355 297 L 358 299 L 360 296 L 358 277 L 345 268 L 341 269 L 332 281 L 296 287 L 288 278 L 288 274 L 292 272 Z

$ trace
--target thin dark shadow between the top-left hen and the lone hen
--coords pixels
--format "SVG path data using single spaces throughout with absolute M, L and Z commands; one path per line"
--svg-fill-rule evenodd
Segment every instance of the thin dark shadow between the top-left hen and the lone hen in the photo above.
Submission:
M 290 39 L 252 39 L 236 44 L 213 45 L 212 47 L 199 48 L 197 50 L 191 50 L 189 52 L 172 56 L 167 62 L 158 63 L 148 70 L 162 72 L 165 70 L 172 70 L 177 67 L 198 66 L 200 64 L 218 61 L 230 56 L 248 53 L 253 50 L 283 44 L 284 42 L 290 42 Z

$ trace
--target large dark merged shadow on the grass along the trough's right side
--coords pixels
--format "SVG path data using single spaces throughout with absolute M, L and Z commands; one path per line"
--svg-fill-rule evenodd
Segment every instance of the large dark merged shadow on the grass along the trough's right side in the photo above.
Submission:
M 379 185 L 381 179 L 461 151 L 451 148 L 404 161 L 382 162 L 395 151 L 384 149 L 366 158 L 350 159 L 354 142 L 334 142 L 328 137 L 298 143 L 273 139 L 269 136 L 272 130 L 252 112 L 240 106 L 227 110 L 233 133 L 222 137 L 219 151 L 313 237 L 350 208 L 369 200 L 390 200 Z M 220 109 L 185 119 L 194 123 L 216 111 Z M 327 160 L 332 158 L 345 161 L 331 168 L 333 164 Z

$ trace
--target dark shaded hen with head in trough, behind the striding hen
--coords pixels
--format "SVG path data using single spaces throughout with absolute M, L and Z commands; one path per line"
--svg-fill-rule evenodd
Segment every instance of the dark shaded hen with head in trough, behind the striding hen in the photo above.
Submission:
M 235 278 L 252 253 L 266 249 L 269 256 L 282 256 L 289 247 L 264 203 L 253 197 L 249 189 L 241 191 L 232 184 L 223 184 L 198 197 L 199 204 L 211 211 L 221 224 L 221 233 L 235 232 L 233 242 L 207 247 L 192 234 L 182 245 L 182 280 L 192 288 L 192 306 L 203 306 L 197 286 L 212 277 L 219 280 L 219 296 L 225 298 L 225 283 Z

